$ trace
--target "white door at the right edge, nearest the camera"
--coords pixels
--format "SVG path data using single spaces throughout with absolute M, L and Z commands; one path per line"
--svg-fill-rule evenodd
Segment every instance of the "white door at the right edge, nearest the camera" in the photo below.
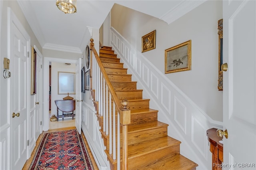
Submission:
M 256 1 L 223 1 L 225 170 L 256 169 Z

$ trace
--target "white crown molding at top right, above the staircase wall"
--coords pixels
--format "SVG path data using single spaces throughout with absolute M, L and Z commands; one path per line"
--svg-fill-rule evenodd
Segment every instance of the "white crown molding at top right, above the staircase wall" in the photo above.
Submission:
M 186 13 L 190 12 L 191 10 L 193 10 L 194 8 L 198 7 L 206 1 L 207 0 L 183 0 L 159 19 L 163 20 L 167 24 L 171 24 L 178 18 L 184 16 Z

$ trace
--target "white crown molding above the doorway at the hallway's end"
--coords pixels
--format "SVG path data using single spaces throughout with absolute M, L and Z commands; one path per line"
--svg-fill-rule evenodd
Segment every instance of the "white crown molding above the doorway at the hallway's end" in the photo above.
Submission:
M 52 49 L 57 51 L 66 51 L 70 53 L 80 53 L 82 54 L 82 51 L 78 47 L 71 47 L 71 46 L 65 46 L 65 45 L 58 45 L 53 43 L 46 43 L 43 46 L 44 49 Z

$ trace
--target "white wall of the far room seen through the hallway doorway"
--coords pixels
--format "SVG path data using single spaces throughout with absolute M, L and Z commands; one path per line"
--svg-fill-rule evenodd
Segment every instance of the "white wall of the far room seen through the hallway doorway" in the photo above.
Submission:
M 58 95 L 58 71 L 62 72 L 72 72 L 76 73 L 76 65 L 71 64 L 71 65 L 66 65 L 65 63 L 57 63 L 57 62 L 52 62 L 52 76 L 51 76 L 51 115 L 56 115 L 57 116 L 57 107 L 55 104 L 55 100 L 62 100 L 64 97 L 68 96 L 66 94 Z M 76 86 L 75 86 L 76 87 Z M 76 99 L 75 94 L 70 94 L 70 97 L 73 97 Z M 75 113 L 75 111 L 74 111 Z M 62 115 L 62 112 L 59 111 L 59 115 Z

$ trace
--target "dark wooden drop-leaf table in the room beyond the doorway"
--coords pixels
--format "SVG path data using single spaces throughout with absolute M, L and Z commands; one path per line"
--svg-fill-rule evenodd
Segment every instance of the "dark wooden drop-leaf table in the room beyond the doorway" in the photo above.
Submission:
M 55 100 L 55 104 L 57 106 L 57 121 L 59 121 L 59 110 L 62 111 L 62 121 L 64 117 L 72 116 L 72 119 L 74 119 L 74 110 L 76 109 L 75 100 Z

